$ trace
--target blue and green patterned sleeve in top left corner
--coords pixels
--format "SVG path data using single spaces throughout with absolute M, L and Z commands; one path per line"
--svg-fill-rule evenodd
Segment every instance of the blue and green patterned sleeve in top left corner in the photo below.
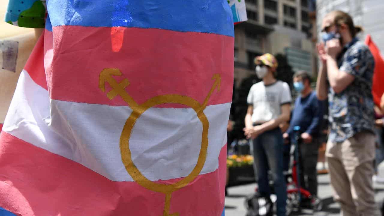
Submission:
M 10 0 L 5 13 L 5 22 L 27 28 L 44 28 L 45 18 L 45 0 Z

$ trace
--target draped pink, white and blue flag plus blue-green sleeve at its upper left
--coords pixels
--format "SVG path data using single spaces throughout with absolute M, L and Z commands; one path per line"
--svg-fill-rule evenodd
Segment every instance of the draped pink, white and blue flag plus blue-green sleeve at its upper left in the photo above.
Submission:
M 0 207 L 222 215 L 228 2 L 17 0 L 5 21 L 40 27 L 45 16 L 0 135 Z

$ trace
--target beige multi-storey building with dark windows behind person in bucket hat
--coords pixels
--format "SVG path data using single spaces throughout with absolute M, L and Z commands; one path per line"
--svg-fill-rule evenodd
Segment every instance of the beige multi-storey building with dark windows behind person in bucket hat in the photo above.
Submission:
M 308 0 L 245 0 L 248 21 L 235 26 L 235 79 L 255 73 L 253 59 L 263 53 L 286 56 L 293 70 L 314 73 L 311 6 Z

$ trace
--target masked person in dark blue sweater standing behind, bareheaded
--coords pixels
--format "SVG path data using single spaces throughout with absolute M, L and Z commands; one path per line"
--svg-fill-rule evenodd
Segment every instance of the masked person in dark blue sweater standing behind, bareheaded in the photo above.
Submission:
M 283 134 L 285 139 L 293 139 L 293 127 L 300 126 L 301 182 L 303 188 L 317 196 L 318 149 L 320 146 L 320 125 L 323 119 L 323 103 L 311 88 L 310 76 L 305 71 L 298 71 L 293 76 L 293 86 L 300 93 L 292 111 L 290 127 Z M 306 178 L 305 178 L 306 177 Z M 306 181 L 305 181 L 306 179 Z

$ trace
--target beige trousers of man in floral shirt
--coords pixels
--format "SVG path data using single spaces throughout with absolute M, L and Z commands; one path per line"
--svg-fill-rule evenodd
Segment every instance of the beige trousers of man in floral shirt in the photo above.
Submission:
M 340 215 L 381 216 L 372 186 L 374 134 L 361 132 L 343 143 L 328 141 L 325 155 Z

